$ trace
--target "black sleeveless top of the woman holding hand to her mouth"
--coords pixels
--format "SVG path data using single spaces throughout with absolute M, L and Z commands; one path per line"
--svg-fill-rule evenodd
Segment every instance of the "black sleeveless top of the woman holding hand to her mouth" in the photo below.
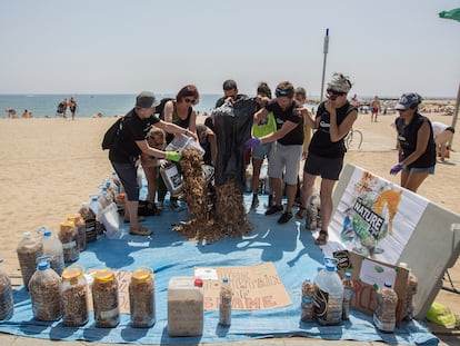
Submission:
M 342 121 L 353 110 L 357 110 L 357 108 L 354 106 L 351 106 L 348 101 L 342 107 L 337 108 L 337 126 L 340 126 L 340 123 L 342 123 Z M 329 128 L 331 126 L 331 115 L 326 109 L 326 101 L 318 107 L 317 117 L 321 118 L 320 123 L 311 137 L 308 151 L 328 158 L 343 157 L 347 152 L 347 148 L 343 142 L 344 137 L 338 141 L 331 141 L 331 136 L 329 132 Z

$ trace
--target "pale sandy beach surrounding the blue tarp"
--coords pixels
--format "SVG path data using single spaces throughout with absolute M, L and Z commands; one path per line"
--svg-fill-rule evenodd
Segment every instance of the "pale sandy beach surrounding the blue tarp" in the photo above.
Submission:
M 426 113 L 431 120 L 451 125 L 452 117 Z M 360 149 L 351 149 L 346 162 L 360 166 L 374 175 L 398 182 L 399 176 L 389 175 L 397 162 L 396 132 L 391 127 L 397 115 L 370 121 L 370 115 L 360 115 L 354 126 L 363 134 Z M 203 120 L 203 119 L 200 119 Z M 18 276 L 16 247 L 24 231 L 36 231 L 44 225 L 53 233 L 67 215 L 77 212 L 89 195 L 97 194 L 99 185 L 112 171 L 108 151 L 100 142 L 114 118 L 101 119 L 0 119 L 0 257 L 2 268 Z M 457 130 L 459 128 L 457 127 Z M 453 148 L 460 148 L 454 137 Z M 460 214 L 460 154 L 451 152 L 446 162 L 438 162 L 419 194 L 431 201 Z M 449 270 L 454 287 L 460 288 L 460 263 Z M 444 281 L 446 286 L 450 286 Z M 460 314 L 459 296 L 441 290 L 437 301 Z

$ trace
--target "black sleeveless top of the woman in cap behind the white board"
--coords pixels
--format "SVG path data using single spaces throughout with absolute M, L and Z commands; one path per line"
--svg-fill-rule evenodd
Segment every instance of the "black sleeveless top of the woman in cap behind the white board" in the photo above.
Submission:
M 404 158 L 416 151 L 418 132 L 424 121 L 428 121 L 430 125 L 430 139 L 424 152 L 414 162 L 408 165 L 409 168 L 428 168 L 436 165 L 436 144 L 433 139 L 433 129 L 430 120 L 419 113 L 414 113 L 412 120 L 408 125 L 404 123 L 404 119 L 402 118 L 396 119 L 398 140 L 401 145 Z

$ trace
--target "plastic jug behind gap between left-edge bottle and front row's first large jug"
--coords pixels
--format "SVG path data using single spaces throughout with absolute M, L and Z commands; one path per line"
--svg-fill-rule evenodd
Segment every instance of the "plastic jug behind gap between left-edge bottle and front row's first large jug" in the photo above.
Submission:
M 29 289 L 29 280 L 37 269 L 37 258 L 43 256 L 43 244 L 38 237 L 33 237 L 30 231 L 22 235 L 21 241 L 17 247 L 19 266 L 21 268 L 22 281 Z

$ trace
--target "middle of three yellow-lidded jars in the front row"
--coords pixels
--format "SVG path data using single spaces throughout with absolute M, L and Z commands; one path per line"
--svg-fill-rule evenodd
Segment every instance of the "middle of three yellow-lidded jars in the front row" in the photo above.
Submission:
M 114 328 L 120 323 L 118 280 L 109 269 L 97 270 L 92 277 L 91 293 L 96 326 Z

